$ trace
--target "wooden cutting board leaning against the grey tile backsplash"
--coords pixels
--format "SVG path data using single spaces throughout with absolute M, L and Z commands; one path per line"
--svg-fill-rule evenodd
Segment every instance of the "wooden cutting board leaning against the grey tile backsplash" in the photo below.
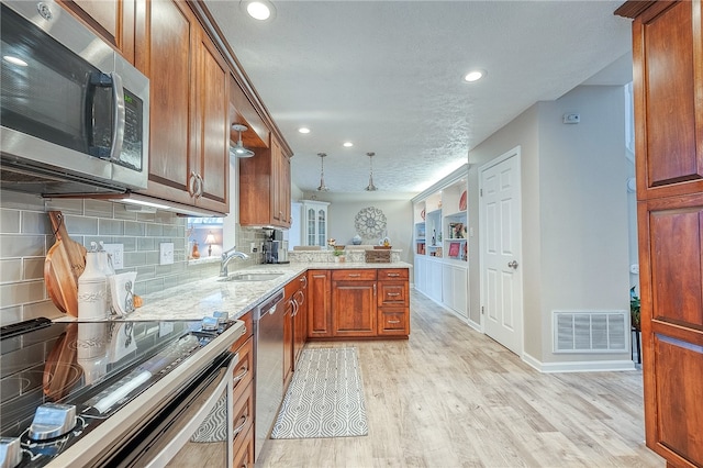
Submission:
M 78 277 L 86 269 L 86 247 L 68 236 L 60 211 L 49 211 L 47 214 L 56 242 L 44 261 L 46 290 L 62 312 L 78 316 Z

